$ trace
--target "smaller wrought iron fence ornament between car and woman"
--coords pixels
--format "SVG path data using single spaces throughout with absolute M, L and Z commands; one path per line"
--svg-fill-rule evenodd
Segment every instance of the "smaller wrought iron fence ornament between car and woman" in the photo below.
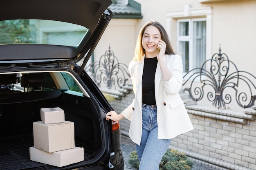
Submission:
M 98 87 L 105 84 L 108 89 L 116 89 L 117 86 L 122 88 L 128 80 L 126 76 L 130 77 L 128 66 L 119 63 L 114 52 L 110 50 L 110 45 L 105 54 L 100 57 L 100 60 L 89 64 L 85 70 L 92 73 L 91 77 Z

